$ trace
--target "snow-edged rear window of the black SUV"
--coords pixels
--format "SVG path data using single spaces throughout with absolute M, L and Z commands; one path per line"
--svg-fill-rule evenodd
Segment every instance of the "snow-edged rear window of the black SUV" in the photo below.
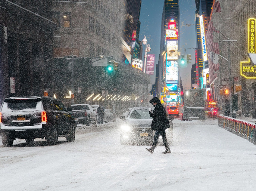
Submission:
M 20 110 L 41 110 L 41 101 L 38 99 L 13 99 L 6 100 L 2 110 L 10 109 L 12 111 Z

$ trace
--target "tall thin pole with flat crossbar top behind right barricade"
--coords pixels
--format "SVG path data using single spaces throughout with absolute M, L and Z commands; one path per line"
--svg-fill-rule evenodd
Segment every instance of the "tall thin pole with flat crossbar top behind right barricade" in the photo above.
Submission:
M 230 89 L 229 89 L 229 92 L 230 92 L 230 95 L 229 95 L 229 111 L 230 111 L 230 117 L 233 117 L 234 81 L 233 81 L 232 72 L 231 72 L 230 42 L 231 41 L 236 42 L 237 40 L 227 39 L 227 40 L 222 40 L 222 41 L 228 42 L 228 69 L 230 71 L 230 75 L 229 75 L 229 87 L 230 87 Z M 233 86 L 233 88 L 232 88 L 232 86 Z

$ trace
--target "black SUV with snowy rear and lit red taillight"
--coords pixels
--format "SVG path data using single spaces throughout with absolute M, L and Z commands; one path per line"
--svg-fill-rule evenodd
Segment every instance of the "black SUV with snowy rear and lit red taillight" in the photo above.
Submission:
M 0 134 L 4 146 L 12 146 L 14 139 L 32 143 L 45 138 L 54 145 L 58 137 L 75 140 L 76 124 L 61 101 L 53 97 L 9 97 L 0 110 Z

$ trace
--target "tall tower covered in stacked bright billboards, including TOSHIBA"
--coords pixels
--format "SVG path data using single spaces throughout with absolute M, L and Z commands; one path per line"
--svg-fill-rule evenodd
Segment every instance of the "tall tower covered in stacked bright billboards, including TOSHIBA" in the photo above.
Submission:
M 160 42 L 160 57 L 159 57 L 159 74 L 157 83 L 157 95 L 162 103 L 169 104 L 178 102 L 177 97 L 169 97 L 169 94 L 164 99 L 165 93 L 177 92 L 179 84 L 178 76 L 178 50 L 179 50 L 179 0 L 165 0 L 162 23 L 161 23 L 161 42 Z M 170 71 L 175 71 L 171 73 Z M 157 82 L 158 81 L 158 82 Z M 177 93 L 173 93 L 177 95 Z M 175 101 L 174 101 L 175 100 Z

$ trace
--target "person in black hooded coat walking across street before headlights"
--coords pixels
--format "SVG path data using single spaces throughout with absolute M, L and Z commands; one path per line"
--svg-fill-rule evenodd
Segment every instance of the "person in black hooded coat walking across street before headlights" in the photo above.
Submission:
M 161 135 L 163 137 L 164 146 L 165 146 L 165 151 L 163 153 L 164 154 L 170 153 L 171 152 L 170 146 L 168 144 L 166 134 L 165 134 L 165 129 L 170 128 L 170 124 L 169 124 L 169 120 L 167 119 L 164 106 L 161 104 L 158 97 L 153 97 L 153 99 L 151 99 L 149 102 L 152 103 L 155 107 L 153 112 L 149 111 L 150 117 L 153 118 L 151 123 L 151 129 L 155 131 L 155 136 L 154 136 L 154 142 L 151 148 L 149 149 L 146 148 L 146 150 L 153 153 L 158 143 L 158 138 Z

